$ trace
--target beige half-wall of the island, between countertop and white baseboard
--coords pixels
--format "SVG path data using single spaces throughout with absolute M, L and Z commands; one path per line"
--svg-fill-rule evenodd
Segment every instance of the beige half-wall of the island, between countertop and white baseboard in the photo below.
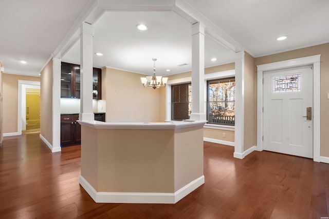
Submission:
M 98 192 L 173 193 L 203 176 L 202 126 L 81 133 L 81 175 Z

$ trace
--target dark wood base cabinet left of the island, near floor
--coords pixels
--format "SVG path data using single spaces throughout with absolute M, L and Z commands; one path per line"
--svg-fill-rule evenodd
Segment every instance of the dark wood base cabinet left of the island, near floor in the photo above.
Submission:
M 61 115 L 61 145 L 79 145 L 81 143 L 81 126 L 77 122 L 79 115 Z

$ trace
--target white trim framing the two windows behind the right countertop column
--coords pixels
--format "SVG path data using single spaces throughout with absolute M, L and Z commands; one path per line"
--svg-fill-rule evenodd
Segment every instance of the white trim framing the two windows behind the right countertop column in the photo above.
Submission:
M 204 84 L 204 89 L 206 92 L 205 93 L 205 112 L 207 112 L 207 81 L 212 80 L 212 79 L 220 79 L 220 78 L 225 78 L 225 77 L 234 77 L 235 76 L 235 70 L 228 70 L 228 71 L 221 71 L 221 72 L 215 72 L 215 73 L 210 73 L 210 74 L 205 74 L 205 84 Z M 179 78 L 179 79 L 173 79 L 167 82 L 166 85 L 166 121 L 171 120 L 171 86 L 172 85 L 177 85 L 177 84 L 185 84 L 189 83 L 192 81 L 192 77 L 184 77 L 184 78 Z M 229 130 L 229 131 L 234 131 L 235 127 L 234 126 L 226 126 L 226 125 L 216 125 L 216 124 L 205 124 L 204 128 L 208 129 L 220 129 L 220 130 Z

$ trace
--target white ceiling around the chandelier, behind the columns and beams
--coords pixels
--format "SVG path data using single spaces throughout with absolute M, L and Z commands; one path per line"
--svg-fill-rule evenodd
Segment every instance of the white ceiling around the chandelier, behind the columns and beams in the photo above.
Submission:
M 119 22 L 118 22 L 119 21 Z M 147 31 L 136 28 L 147 24 Z M 173 12 L 107 12 L 93 25 L 94 67 L 108 66 L 137 73 L 157 75 L 191 70 L 191 25 Z M 206 37 L 205 65 L 214 66 L 234 59 L 234 52 Z M 210 59 L 216 57 L 217 61 Z M 80 41 L 62 58 L 63 62 L 80 64 Z M 180 64 L 188 64 L 178 66 Z M 170 69 L 170 72 L 166 70 Z

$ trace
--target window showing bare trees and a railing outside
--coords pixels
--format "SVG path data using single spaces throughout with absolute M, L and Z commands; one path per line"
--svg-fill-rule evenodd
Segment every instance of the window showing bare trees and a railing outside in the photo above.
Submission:
M 235 124 L 235 78 L 207 81 L 207 121 L 210 124 Z

